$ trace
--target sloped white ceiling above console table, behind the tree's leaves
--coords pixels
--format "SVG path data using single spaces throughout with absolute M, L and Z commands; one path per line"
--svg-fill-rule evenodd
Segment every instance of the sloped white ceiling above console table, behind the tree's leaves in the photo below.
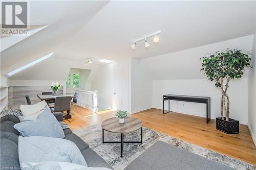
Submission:
M 148 75 L 151 75 L 152 80 L 206 79 L 203 72 L 200 71 L 201 57 L 209 56 L 210 53 L 212 54 L 217 51 L 225 51 L 227 48 L 238 48 L 243 53 L 251 53 L 253 36 L 244 36 L 189 48 L 179 52 L 141 59 L 139 65 Z M 243 77 L 248 77 L 248 68 L 245 68 Z

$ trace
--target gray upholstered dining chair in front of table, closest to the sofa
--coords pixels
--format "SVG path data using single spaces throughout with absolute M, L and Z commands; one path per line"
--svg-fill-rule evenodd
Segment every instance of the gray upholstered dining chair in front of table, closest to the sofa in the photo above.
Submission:
M 65 118 L 69 120 L 68 116 L 70 116 L 70 118 L 72 119 L 72 113 L 70 112 L 70 109 L 71 109 L 71 96 L 56 96 L 54 107 L 51 108 L 52 112 L 61 112 L 64 114 L 64 111 L 67 111 Z

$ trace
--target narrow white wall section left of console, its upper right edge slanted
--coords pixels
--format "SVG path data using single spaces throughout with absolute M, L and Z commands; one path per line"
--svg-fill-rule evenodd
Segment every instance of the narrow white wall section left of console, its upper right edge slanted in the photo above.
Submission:
M 141 67 L 140 60 L 131 60 L 132 113 L 152 108 L 152 77 Z

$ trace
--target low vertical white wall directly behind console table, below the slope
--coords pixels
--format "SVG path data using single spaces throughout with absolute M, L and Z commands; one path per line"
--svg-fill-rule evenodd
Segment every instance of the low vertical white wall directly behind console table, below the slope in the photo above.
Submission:
M 230 118 L 239 120 L 241 124 L 247 124 L 247 78 L 230 82 L 227 93 L 230 98 Z M 221 91 L 207 79 L 154 80 L 153 108 L 163 109 L 163 94 L 210 96 L 211 118 L 215 119 L 221 116 Z M 168 109 L 167 101 L 164 107 L 165 110 Z M 206 104 L 172 101 L 170 102 L 170 110 L 206 117 Z

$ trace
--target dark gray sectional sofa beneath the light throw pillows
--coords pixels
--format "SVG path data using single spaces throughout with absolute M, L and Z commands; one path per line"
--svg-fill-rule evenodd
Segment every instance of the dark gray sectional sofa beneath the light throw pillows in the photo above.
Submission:
M 54 113 L 58 121 L 62 121 L 62 113 Z M 19 132 L 13 125 L 19 123 L 19 119 L 13 115 L 1 118 L 1 157 L 0 169 L 20 169 L 18 159 L 18 136 Z M 65 139 L 74 142 L 81 151 L 88 166 L 91 167 L 112 167 L 106 163 L 89 145 L 74 134 L 70 129 L 63 130 Z M 29 151 L 28 151 L 29 152 Z

